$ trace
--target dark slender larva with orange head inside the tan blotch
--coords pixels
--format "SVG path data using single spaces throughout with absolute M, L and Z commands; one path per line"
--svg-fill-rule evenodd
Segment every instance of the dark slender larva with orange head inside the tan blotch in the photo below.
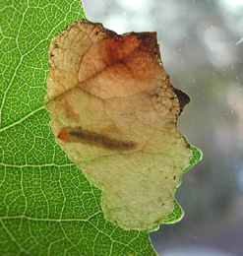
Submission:
M 107 150 L 128 151 L 135 150 L 137 143 L 109 138 L 107 135 L 91 132 L 81 127 L 64 127 L 59 132 L 58 139 L 67 143 L 83 143 Z

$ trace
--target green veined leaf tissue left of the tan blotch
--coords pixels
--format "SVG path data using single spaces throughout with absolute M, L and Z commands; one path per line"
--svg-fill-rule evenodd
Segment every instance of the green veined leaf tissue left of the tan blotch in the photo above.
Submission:
M 54 141 L 43 107 L 51 38 L 82 2 L 0 2 L 0 255 L 155 255 L 149 231 L 103 219 L 100 191 Z

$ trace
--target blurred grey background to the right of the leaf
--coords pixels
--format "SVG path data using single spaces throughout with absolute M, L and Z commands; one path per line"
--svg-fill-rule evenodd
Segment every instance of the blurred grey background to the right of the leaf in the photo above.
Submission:
M 243 0 L 84 5 L 115 32 L 156 31 L 173 86 L 191 96 L 178 128 L 204 159 L 176 192 L 183 220 L 151 233 L 158 255 L 243 255 Z

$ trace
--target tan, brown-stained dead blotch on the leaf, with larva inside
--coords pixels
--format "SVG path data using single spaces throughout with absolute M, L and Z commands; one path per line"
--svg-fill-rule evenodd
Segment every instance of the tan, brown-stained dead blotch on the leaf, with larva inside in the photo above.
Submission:
M 176 128 L 189 96 L 171 86 L 156 32 L 119 35 L 82 20 L 52 39 L 49 63 L 56 142 L 102 190 L 105 219 L 125 229 L 161 223 L 192 152 Z

